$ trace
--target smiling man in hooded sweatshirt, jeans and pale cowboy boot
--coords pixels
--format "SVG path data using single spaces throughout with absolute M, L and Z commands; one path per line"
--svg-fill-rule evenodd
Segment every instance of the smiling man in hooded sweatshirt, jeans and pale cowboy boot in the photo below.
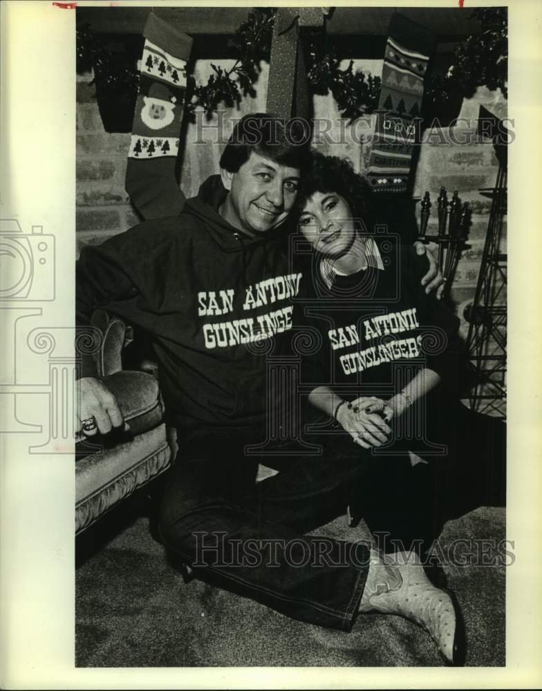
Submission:
M 244 117 L 221 157 L 221 175 L 204 182 L 180 216 L 84 248 L 77 321 L 88 324 L 93 309 L 105 307 L 152 337 L 160 387 L 182 440 L 160 533 L 196 576 L 344 630 L 358 611 L 374 607 L 418 617 L 451 661 L 453 636 L 442 626 L 455 628 L 454 608 L 421 567 L 388 566 L 375 554 L 369 567 L 366 547 L 344 553 L 338 540 L 323 546 L 303 536 L 315 521 L 340 513 L 359 466 L 292 460 L 287 472 L 256 486 L 259 457 L 245 454 L 247 445 L 265 441 L 268 416 L 281 419 L 287 394 L 268 388 L 266 354 L 289 354 L 297 328 L 293 301 L 302 275 L 291 269 L 279 231 L 309 160 L 308 146 L 290 143 L 303 139 L 295 128 L 272 115 Z M 83 375 L 86 434 L 120 426 L 122 413 L 104 384 L 86 366 Z M 413 614 L 409 593 L 422 605 Z

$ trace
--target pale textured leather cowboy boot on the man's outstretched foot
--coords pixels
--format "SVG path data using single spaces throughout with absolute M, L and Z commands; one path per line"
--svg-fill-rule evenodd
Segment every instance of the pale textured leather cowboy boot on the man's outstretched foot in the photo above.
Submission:
M 436 588 L 413 552 L 380 557 L 371 550 L 359 612 L 399 614 L 423 627 L 447 663 L 464 663 L 462 622 L 454 596 Z

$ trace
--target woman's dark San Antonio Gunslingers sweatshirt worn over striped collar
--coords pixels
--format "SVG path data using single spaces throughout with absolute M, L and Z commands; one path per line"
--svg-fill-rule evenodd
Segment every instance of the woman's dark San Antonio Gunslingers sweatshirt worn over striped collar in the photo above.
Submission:
M 427 258 L 389 240 L 380 247 L 383 269 L 335 276 L 330 288 L 310 281 L 306 328 L 319 347 L 304 361 L 302 386 L 330 386 L 346 400 L 388 399 L 427 367 L 440 376 L 439 397 L 451 403 L 465 365 L 459 320 L 434 294 L 425 294 Z

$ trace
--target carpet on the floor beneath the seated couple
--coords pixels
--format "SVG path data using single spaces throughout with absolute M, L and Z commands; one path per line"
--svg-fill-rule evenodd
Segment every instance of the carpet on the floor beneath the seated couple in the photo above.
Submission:
M 106 517 L 102 524 L 113 522 Z M 315 532 L 368 537 L 363 522 L 348 528 L 345 517 Z M 467 666 L 505 665 L 505 565 L 498 559 L 504 537 L 505 509 L 482 507 L 447 522 L 438 541 L 460 562 L 445 565 L 445 573 L 465 619 Z M 345 633 L 197 580 L 183 583 L 138 511 L 125 511 L 115 529 L 87 538 L 77 551 L 78 667 L 442 665 L 429 634 L 399 616 L 359 616 Z

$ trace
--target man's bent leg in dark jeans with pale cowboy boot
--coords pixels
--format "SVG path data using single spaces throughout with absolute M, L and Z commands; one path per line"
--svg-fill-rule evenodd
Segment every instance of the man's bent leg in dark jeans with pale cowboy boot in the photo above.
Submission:
M 183 444 L 162 507 L 165 545 L 203 580 L 301 621 L 350 630 L 358 612 L 401 614 L 429 631 L 447 661 L 460 663 L 454 602 L 429 583 L 413 556 L 394 564 L 366 545 L 345 552 L 346 542 L 323 543 L 291 527 L 312 520 L 326 491 L 337 490 L 337 476 L 353 477 L 355 466 L 306 459 L 254 494 L 245 489 L 249 475 L 237 472 L 242 464 L 229 462 L 244 457 L 245 443 L 244 436 L 207 432 Z M 312 509 L 302 508 L 306 502 Z

